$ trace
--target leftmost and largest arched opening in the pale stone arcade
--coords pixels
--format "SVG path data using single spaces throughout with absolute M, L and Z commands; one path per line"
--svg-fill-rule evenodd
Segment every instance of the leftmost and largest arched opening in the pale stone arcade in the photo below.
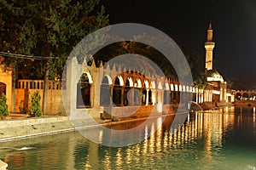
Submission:
M 77 83 L 77 108 L 91 107 L 90 74 L 83 73 Z

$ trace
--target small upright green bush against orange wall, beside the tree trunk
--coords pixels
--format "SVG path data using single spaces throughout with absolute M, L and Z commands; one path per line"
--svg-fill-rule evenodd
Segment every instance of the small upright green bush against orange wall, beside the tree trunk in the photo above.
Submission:
M 43 111 L 41 109 L 41 96 L 39 94 L 39 92 L 35 92 L 34 94 L 32 94 L 32 99 L 31 99 L 31 111 L 30 111 L 30 115 L 31 116 L 42 116 L 43 115 Z

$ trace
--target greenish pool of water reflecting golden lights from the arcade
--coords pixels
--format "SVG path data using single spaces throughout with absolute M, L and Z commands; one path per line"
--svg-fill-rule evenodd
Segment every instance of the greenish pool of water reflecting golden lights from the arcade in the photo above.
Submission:
M 81 133 L 59 133 L 1 143 L 0 159 L 11 169 L 256 169 L 255 108 L 190 113 L 177 132 L 173 116 L 148 122 L 145 139 L 110 147 Z M 154 128 L 161 122 L 160 128 Z M 109 128 L 123 130 L 135 122 Z M 87 131 L 84 130 L 84 133 Z M 91 133 L 91 132 L 90 132 Z M 98 135 L 97 133 L 95 135 Z M 104 134 L 103 134 L 104 135 Z M 111 137 L 114 139 L 114 136 Z M 136 138 L 134 134 L 123 140 Z M 103 137 L 104 139 L 104 137 Z

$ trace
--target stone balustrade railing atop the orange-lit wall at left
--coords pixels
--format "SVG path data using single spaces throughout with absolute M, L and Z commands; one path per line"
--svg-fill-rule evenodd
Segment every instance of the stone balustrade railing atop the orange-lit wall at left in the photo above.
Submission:
M 44 89 L 44 80 L 18 80 L 16 88 L 23 89 Z M 49 80 L 49 89 L 61 89 L 61 81 Z

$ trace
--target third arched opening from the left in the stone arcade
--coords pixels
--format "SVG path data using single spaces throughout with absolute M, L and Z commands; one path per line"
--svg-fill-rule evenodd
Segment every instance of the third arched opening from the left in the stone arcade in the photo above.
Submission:
M 113 104 L 115 106 L 122 105 L 122 86 L 119 77 L 116 77 L 113 83 Z

